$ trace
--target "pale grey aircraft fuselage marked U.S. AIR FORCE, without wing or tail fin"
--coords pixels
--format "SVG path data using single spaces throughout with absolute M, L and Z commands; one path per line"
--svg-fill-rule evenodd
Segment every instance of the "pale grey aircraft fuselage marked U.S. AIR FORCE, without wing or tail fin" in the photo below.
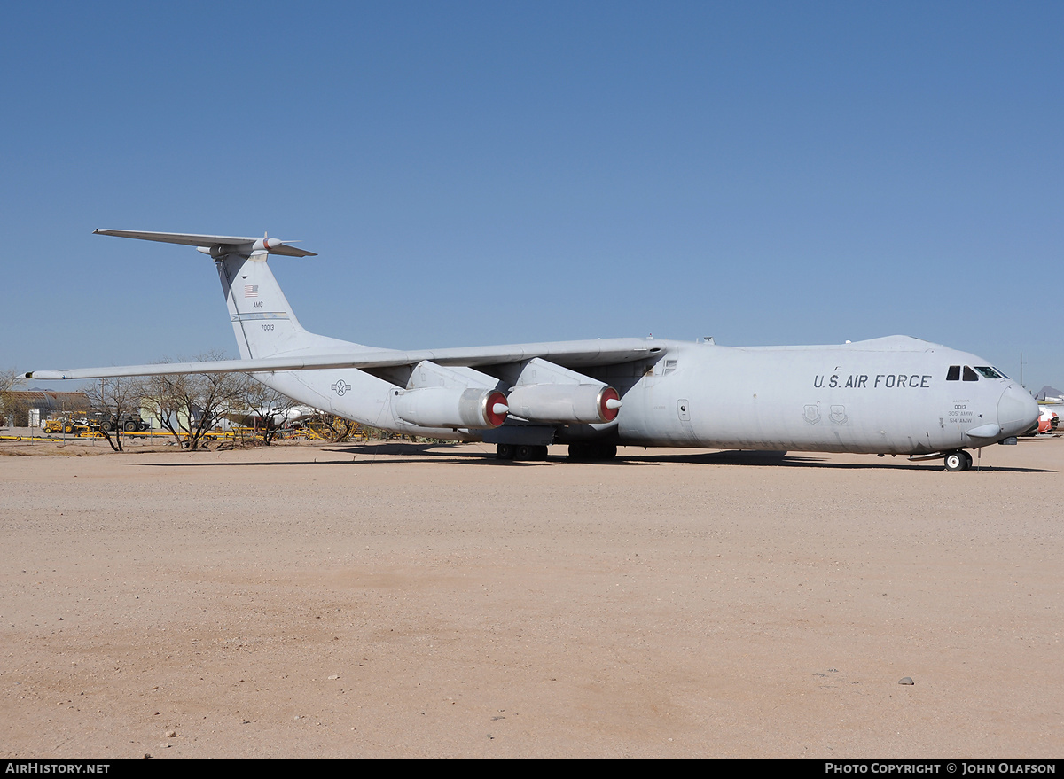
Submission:
M 1024 432 L 1037 416 L 1034 400 L 1010 379 L 947 379 L 951 365 L 986 361 L 915 338 L 753 348 L 654 343 L 661 349 L 650 364 L 585 369 L 620 391 L 615 421 L 560 426 L 554 440 L 919 454 L 995 443 Z M 260 379 L 310 405 L 373 427 L 482 437 L 477 430 L 403 421 L 395 409 L 403 388 L 363 370 L 287 371 Z M 985 437 L 967 434 L 986 426 L 998 430 Z

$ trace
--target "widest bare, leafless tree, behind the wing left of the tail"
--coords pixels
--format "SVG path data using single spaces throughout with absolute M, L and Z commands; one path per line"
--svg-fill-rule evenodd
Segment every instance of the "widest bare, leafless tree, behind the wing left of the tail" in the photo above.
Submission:
M 196 361 L 221 359 L 220 352 L 213 351 L 199 355 Z M 144 385 L 144 402 L 157 414 L 160 424 L 170 431 L 180 446 L 205 448 L 207 433 L 217 425 L 222 411 L 239 402 L 244 385 L 239 374 L 151 376 Z

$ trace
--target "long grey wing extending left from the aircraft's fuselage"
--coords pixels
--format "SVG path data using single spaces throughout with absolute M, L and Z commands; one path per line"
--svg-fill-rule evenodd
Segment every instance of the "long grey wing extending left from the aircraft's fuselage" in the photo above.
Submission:
M 173 374 L 257 374 L 272 370 L 315 370 L 318 368 L 396 368 L 428 360 L 437 365 L 484 367 L 520 363 L 533 358 L 567 368 L 616 365 L 656 357 L 666 347 L 652 338 L 597 338 L 545 344 L 512 344 L 458 349 L 399 351 L 373 349 L 338 354 L 302 354 L 262 360 L 214 360 L 195 363 L 153 363 L 103 368 L 32 370 L 27 379 L 101 379 L 117 376 L 169 376 Z

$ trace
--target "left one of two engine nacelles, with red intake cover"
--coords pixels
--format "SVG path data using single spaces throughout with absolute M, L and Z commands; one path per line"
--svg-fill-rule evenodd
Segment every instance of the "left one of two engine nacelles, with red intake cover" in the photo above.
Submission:
M 510 411 L 498 390 L 427 386 L 396 399 L 396 415 L 422 428 L 497 428 Z

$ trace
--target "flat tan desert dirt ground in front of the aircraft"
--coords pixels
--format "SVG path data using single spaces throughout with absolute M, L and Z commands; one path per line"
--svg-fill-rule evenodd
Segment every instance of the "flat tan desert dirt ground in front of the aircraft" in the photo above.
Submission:
M 0 444 L 0 755 L 1064 755 L 1064 438 L 492 451 Z

